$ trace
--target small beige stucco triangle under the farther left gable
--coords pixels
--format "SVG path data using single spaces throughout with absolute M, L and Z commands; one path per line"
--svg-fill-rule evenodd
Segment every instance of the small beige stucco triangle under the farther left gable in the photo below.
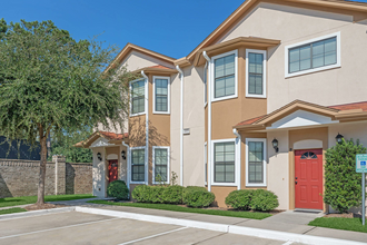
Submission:
M 136 50 L 130 51 L 130 53 L 121 62 L 121 66 L 127 66 L 128 70 L 138 70 L 145 67 L 151 67 L 158 65 L 169 68 L 175 68 L 171 63 L 167 61 L 153 58 L 151 56 L 147 56 Z

